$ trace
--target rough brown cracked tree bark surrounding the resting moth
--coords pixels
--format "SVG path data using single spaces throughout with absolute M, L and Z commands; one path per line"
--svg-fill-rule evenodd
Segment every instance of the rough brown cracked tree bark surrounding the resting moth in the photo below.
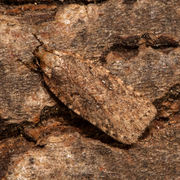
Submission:
M 0 4 L 0 178 L 179 179 L 180 2 L 26 2 Z M 155 105 L 136 144 L 115 141 L 49 91 L 30 70 L 36 37 L 104 66 Z

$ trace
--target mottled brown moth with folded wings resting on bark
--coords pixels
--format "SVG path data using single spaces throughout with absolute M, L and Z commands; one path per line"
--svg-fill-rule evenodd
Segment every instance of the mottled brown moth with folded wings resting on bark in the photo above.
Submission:
M 141 93 L 80 55 L 64 51 L 35 51 L 43 78 L 66 106 L 114 139 L 132 144 L 157 111 Z

